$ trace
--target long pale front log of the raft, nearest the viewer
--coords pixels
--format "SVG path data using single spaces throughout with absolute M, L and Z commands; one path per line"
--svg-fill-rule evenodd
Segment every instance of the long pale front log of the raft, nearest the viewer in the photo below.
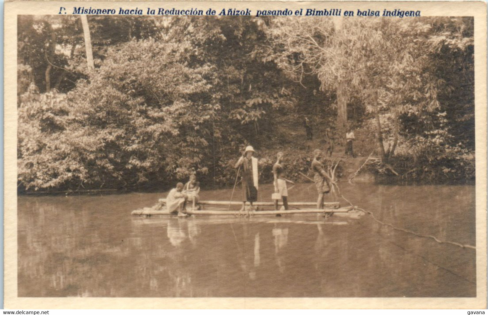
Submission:
M 188 215 L 216 215 L 216 216 L 263 216 L 263 215 L 291 215 L 307 213 L 347 213 L 353 210 L 352 207 L 343 207 L 337 209 L 304 209 L 304 210 L 274 210 L 274 211 L 239 211 L 239 210 L 186 210 Z M 167 211 L 154 210 L 153 208 L 144 208 L 132 211 L 134 216 L 171 216 Z

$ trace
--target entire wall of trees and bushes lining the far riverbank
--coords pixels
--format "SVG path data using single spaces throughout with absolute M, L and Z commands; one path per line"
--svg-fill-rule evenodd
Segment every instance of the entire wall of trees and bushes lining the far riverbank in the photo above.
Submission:
M 472 184 L 473 50 L 469 17 L 19 16 L 18 193 L 224 188 L 247 145 L 305 182 L 327 128 L 339 181 Z

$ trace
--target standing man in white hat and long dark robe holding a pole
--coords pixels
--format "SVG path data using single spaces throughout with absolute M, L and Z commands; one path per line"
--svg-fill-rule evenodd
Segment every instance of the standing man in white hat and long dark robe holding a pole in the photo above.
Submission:
M 244 155 L 239 158 L 234 168 L 239 170 L 242 168 L 242 200 L 244 210 L 245 202 L 251 204 L 258 200 L 258 159 L 253 157 L 254 149 L 248 145 L 244 150 Z

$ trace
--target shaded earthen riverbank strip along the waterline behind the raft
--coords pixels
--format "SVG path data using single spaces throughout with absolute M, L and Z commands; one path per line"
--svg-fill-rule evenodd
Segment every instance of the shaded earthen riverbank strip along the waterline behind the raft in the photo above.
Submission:
M 313 138 L 307 139 L 305 128 L 301 125 L 299 117 L 283 116 L 277 119 L 272 128 L 268 128 L 264 138 L 264 143 L 251 143 L 256 149 L 256 157 L 259 160 L 259 182 L 272 183 L 272 167 L 276 162 L 276 154 L 283 152 L 285 154 L 284 165 L 288 179 L 296 183 L 310 182 L 309 179 L 301 175 L 313 177 L 310 171 L 310 164 L 313 160 L 313 150 L 321 149 L 324 153 L 327 149 L 325 141 L 325 119 L 317 119 L 312 125 Z M 344 146 L 337 141 L 334 146 L 332 155 L 325 155 L 324 164 L 338 164 L 335 177 L 338 182 L 377 182 L 381 184 L 394 185 L 423 185 L 423 184 L 474 184 L 474 167 L 465 165 L 463 167 L 471 168 L 467 172 L 471 175 L 466 177 L 449 177 L 454 174 L 455 161 L 444 164 L 442 167 L 434 167 L 429 162 L 424 165 L 419 161 L 414 161 L 409 157 L 397 156 L 390 161 L 392 168 L 398 175 L 391 171 L 382 169 L 379 164 L 379 158 L 375 157 L 375 144 L 363 130 L 356 132 L 354 141 L 355 157 L 346 157 Z M 370 156 L 371 155 L 371 156 Z M 369 160 L 368 157 L 370 157 Z M 232 187 L 236 183 L 237 171 L 234 164 L 237 161 L 238 154 L 226 155 L 225 157 L 216 158 L 215 164 L 207 173 L 202 174 L 197 169 L 197 176 L 203 186 L 213 187 L 214 189 Z M 366 161 L 367 160 L 367 161 Z M 419 166 L 420 165 L 420 166 Z M 474 161 L 473 161 L 474 165 Z M 446 172 L 447 171 L 447 172 Z M 105 187 L 90 186 L 65 186 L 56 189 L 40 189 L 36 191 L 24 191 L 20 186 L 18 193 L 20 195 L 97 195 L 97 194 L 120 194 L 127 192 L 162 192 L 172 188 L 178 181 L 185 181 L 182 178 L 171 177 L 151 177 L 148 181 L 138 183 L 137 185 L 124 185 L 122 187 L 111 187 L 107 183 Z M 238 179 L 239 180 L 239 179 Z

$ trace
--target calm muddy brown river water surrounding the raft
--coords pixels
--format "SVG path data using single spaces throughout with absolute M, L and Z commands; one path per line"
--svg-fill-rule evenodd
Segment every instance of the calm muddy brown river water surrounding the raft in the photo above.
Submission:
M 260 186 L 260 201 L 271 188 Z M 19 296 L 476 295 L 473 249 L 369 215 L 131 216 L 166 194 L 19 197 Z M 379 220 L 476 245 L 474 186 L 344 183 L 341 194 Z M 231 190 L 200 195 L 229 200 Z M 296 185 L 289 200 L 316 200 L 313 184 Z

